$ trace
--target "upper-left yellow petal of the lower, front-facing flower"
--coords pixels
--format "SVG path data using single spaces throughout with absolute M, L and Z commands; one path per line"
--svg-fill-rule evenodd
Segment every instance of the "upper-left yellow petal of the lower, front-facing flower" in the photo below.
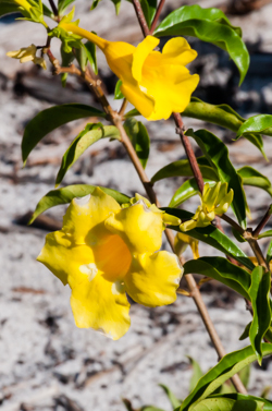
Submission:
M 103 222 L 111 213 L 121 209 L 113 197 L 96 188 L 91 195 L 74 198 L 63 217 L 62 230 L 73 235 L 76 244 L 91 244 L 97 242 L 97 237 L 104 230 Z M 96 227 L 96 230 L 90 230 Z M 88 234 L 88 239 L 87 239 Z

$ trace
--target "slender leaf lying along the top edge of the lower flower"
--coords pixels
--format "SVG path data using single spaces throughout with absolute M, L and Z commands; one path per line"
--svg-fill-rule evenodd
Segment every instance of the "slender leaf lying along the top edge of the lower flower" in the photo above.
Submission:
M 87 184 L 75 184 L 67 185 L 64 189 L 51 190 L 49 191 L 37 204 L 36 209 L 29 220 L 29 225 L 47 209 L 55 207 L 61 204 L 69 204 L 74 197 L 84 197 L 87 194 L 91 194 L 96 185 Z M 107 189 L 99 186 L 106 194 L 111 195 L 119 204 L 124 204 L 129 202 L 127 195 L 120 193 L 116 190 Z

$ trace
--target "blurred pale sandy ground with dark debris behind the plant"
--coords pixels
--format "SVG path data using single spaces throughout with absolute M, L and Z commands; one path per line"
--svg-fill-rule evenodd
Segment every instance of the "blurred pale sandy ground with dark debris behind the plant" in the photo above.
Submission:
M 166 0 L 162 17 L 174 8 L 191 3 L 223 10 L 233 25 L 242 27 L 251 57 L 249 72 L 238 87 L 238 72 L 227 55 L 215 46 L 189 38 L 199 53 L 190 65 L 191 72 L 199 73 L 201 78 L 195 96 L 211 104 L 228 104 L 244 117 L 271 113 L 272 2 Z M 134 9 L 128 2 L 122 2 L 119 16 L 109 0 L 101 1 L 91 12 L 90 0 L 76 0 L 75 5 L 82 27 L 110 40 L 135 45 L 141 40 Z M 42 26 L 15 21 L 14 15 L 0 20 L 0 410 L 122 411 L 125 410 L 122 398 L 129 399 L 134 408 L 156 404 L 170 410 L 158 384 L 168 385 L 178 398 L 184 398 L 193 373 L 187 355 L 194 358 L 203 372 L 218 360 L 194 302 L 178 295 L 176 303 L 165 307 L 150 310 L 133 304 L 129 331 L 120 341 L 111 341 L 90 329 L 75 327 L 69 288 L 36 262 L 46 233 L 61 226 L 65 207 L 50 209 L 30 227 L 27 226 L 29 213 L 41 196 L 54 188 L 62 155 L 85 122 L 71 122 L 47 135 L 23 169 L 20 145 L 24 128 L 35 114 L 52 105 L 83 102 L 97 108 L 99 105 L 88 88 L 72 76 L 66 88 L 62 88 L 61 78 L 52 76 L 49 64 L 49 70 L 42 71 L 32 63 L 20 64 L 5 57 L 7 51 L 32 43 L 45 45 Z M 59 47 L 53 39 L 52 50 L 57 57 Z M 109 100 L 118 109 L 121 102 L 113 100 L 116 77 L 99 51 L 98 65 Z M 170 161 L 185 158 L 185 154 L 173 120 L 141 121 L 151 138 L 146 169 L 151 178 Z M 184 122 L 186 128 L 208 128 L 228 143 L 235 167 L 250 165 L 268 178 L 272 177 L 271 137 L 264 137 L 264 150 L 270 160 L 265 162 L 245 138 L 234 143 L 232 132 L 191 119 L 185 118 Z M 157 183 L 154 189 L 163 205 L 169 204 L 182 182 L 182 178 L 174 178 Z M 135 192 L 145 195 L 118 142 L 100 141 L 86 150 L 63 181 L 63 185 L 76 183 L 103 185 L 132 196 Z M 265 192 L 256 190 L 246 188 L 252 226 L 271 202 Z M 185 207 L 194 211 L 198 203 L 194 197 Z M 265 247 L 265 240 L 262 245 Z M 247 251 L 245 246 L 244 250 Z M 214 255 L 215 251 L 200 245 L 200 254 Z M 191 258 L 190 252 L 185 256 Z M 250 321 L 243 299 L 213 281 L 202 290 L 226 351 L 246 346 L 247 340 L 238 340 Z M 256 364 L 251 366 L 249 391 L 261 395 L 269 385 L 272 385 L 272 364 L 267 359 L 261 368 Z

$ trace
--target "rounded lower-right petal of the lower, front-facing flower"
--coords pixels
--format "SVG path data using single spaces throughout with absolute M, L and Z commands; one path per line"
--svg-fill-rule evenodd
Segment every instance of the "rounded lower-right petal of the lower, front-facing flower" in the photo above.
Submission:
M 182 273 L 175 254 L 168 251 L 140 254 L 133 259 L 125 289 L 134 301 L 146 306 L 172 304 Z

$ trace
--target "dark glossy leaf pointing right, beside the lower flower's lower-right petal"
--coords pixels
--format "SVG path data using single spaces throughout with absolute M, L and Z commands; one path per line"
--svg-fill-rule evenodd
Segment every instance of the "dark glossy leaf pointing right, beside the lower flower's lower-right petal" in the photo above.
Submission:
M 190 259 L 184 265 L 184 275 L 190 273 L 211 277 L 249 300 L 248 290 L 251 282 L 250 274 L 230 263 L 226 258 L 201 257 L 198 259 Z

